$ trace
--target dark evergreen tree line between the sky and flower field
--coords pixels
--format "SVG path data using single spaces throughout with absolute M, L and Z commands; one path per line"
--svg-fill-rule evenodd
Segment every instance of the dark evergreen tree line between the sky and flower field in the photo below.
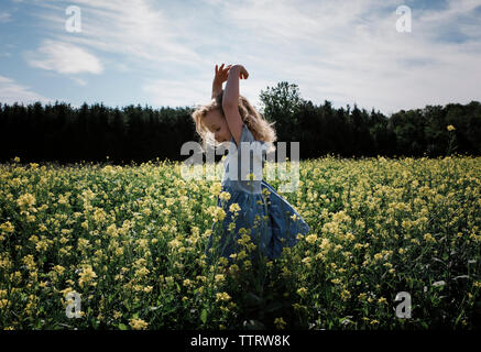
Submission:
M 481 105 L 449 103 L 380 111 L 315 105 L 294 84 L 278 82 L 260 95 L 261 112 L 274 122 L 277 140 L 299 142 L 300 158 L 481 154 Z M 199 141 L 190 118 L 194 107 L 152 109 L 103 103 L 73 108 L 69 103 L 28 106 L 0 102 L 0 162 L 143 163 L 183 161 L 181 147 Z M 448 127 L 452 127 L 449 128 Z M 288 144 L 288 143 L 287 143 Z M 289 148 L 287 147 L 287 156 Z

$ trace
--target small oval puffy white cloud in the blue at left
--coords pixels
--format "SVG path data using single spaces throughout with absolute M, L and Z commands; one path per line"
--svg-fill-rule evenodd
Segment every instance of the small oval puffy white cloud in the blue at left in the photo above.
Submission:
M 86 50 L 63 42 L 46 40 L 35 53 L 28 53 L 28 63 L 37 68 L 59 74 L 100 74 L 100 61 Z

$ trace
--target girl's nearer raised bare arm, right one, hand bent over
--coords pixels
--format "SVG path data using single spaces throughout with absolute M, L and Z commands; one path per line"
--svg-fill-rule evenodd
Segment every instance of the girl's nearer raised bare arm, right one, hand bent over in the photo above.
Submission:
M 232 133 L 232 138 L 236 141 L 237 146 L 240 145 L 240 139 L 242 135 L 242 128 L 244 125 L 242 118 L 239 113 L 239 78 L 248 78 L 249 74 L 241 65 L 234 65 L 229 70 L 229 77 L 227 78 L 226 89 L 222 96 L 222 110 L 226 116 L 227 124 Z

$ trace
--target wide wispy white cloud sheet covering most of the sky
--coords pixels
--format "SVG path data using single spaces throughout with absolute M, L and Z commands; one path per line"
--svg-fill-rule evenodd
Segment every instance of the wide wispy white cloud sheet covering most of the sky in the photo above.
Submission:
M 221 62 L 248 68 L 241 94 L 254 105 L 261 89 L 281 80 L 297 84 L 315 103 L 357 102 L 384 113 L 480 100 L 481 23 L 473 10 L 481 1 L 450 0 L 429 10 L 405 2 L 412 33 L 395 30 L 400 0 L 74 0 L 68 4 L 81 9 L 77 34 L 65 31 L 64 1 L 39 2 L 37 15 L 53 43 L 81 46 L 110 69 L 147 77 L 143 91 L 158 105 L 208 101 L 214 65 Z M 448 41 L 452 32 L 467 40 Z M 36 67 L 72 65 L 64 55 L 39 54 Z M 76 66 L 96 67 L 89 58 Z

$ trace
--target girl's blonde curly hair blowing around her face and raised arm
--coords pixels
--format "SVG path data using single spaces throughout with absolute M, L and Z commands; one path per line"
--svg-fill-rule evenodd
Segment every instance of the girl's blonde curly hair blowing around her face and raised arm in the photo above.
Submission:
M 214 133 L 206 128 L 204 118 L 208 112 L 218 109 L 222 118 L 226 119 L 222 110 L 222 97 L 223 90 L 221 90 L 209 103 L 197 107 L 197 109 L 192 113 L 192 118 L 196 124 L 196 131 L 200 135 L 203 142 L 204 152 L 206 152 L 207 145 L 217 147 L 221 144 L 214 139 Z M 239 113 L 242 121 L 252 132 L 254 139 L 256 141 L 264 141 L 269 144 L 266 152 L 270 153 L 275 151 L 273 142 L 277 141 L 277 135 L 272 128 L 275 122 L 269 122 L 265 120 L 263 114 L 256 111 L 249 100 L 241 95 L 239 95 Z

